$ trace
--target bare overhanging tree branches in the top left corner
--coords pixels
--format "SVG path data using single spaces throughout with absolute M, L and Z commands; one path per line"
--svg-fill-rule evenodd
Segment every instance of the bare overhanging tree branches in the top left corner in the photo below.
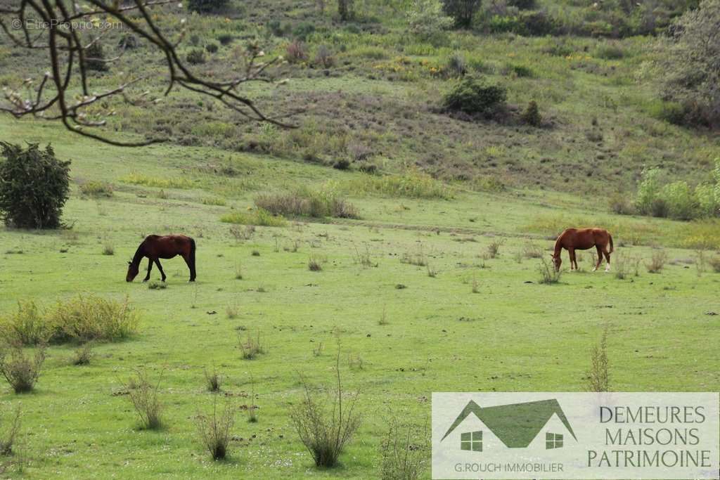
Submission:
M 262 61 L 264 52 L 261 47 L 256 42 L 248 42 L 243 66 L 233 73 L 232 78 L 216 79 L 192 71 L 176 50 L 185 34 L 185 19 L 153 12 L 154 8 L 177 8 L 177 5 L 179 2 L 174 0 L 0 2 L 0 31 L 9 38 L 9 42 L 28 51 L 39 49 L 48 54 L 47 65 L 41 67 L 46 72 L 42 78 L 26 77 L 21 85 L 4 89 L 0 112 L 16 118 L 31 116 L 62 122 L 71 132 L 112 145 L 138 146 L 163 141 L 121 142 L 93 132 L 103 127 L 105 118 L 112 115 L 115 109 L 112 99 L 146 107 L 160 101 L 159 98 L 150 98 L 148 89 L 143 87 L 143 73 L 130 65 L 117 68 L 119 76 L 120 72 L 125 72 L 117 86 L 94 88 L 95 80 L 88 75 L 94 60 L 89 50 L 109 29 L 122 28 L 138 37 L 164 61 L 167 71 L 165 95 L 186 89 L 217 99 L 251 121 L 287 126 L 278 118 L 261 112 L 240 91 L 249 82 L 272 83 L 270 67 L 279 64 L 282 58 Z M 127 42 L 120 42 L 117 55 L 104 59 L 103 63 L 120 61 L 126 46 Z M 28 68 L 34 71 L 37 65 Z

